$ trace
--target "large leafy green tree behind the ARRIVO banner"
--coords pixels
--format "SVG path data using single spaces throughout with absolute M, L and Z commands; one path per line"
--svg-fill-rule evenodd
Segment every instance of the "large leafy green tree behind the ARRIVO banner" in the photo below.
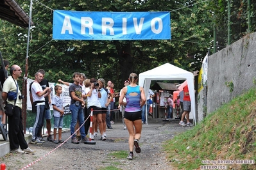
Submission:
M 18 3 L 25 11 L 29 11 L 27 1 L 19 0 Z M 212 15 L 207 4 L 192 0 L 35 1 L 35 25 L 31 29 L 29 50 L 29 76 L 33 77 L 39 68 L 44 68 L 50 82 L 56 82 L 57 79 L 72 81 L 71 75 L 77 71 L 85 73 L 87 77 L 112 80 L 116 84 L 115 88 L 120 89 L 130 73 L 139 75 L 164 63 L 171 63 L 189 71 L 199 70 L 200 61 L 212 42 Z M 51 9 L 107 12 L 171 11 L 173 39 L 55 41 L 52 40 Z M 24 68 L 28 30 L 8 22 L 4 22 L 0 27 L 4 36 L 4 42 L 1 42 L 4 56 L 8 56 L 12 63 L 20 63 Z

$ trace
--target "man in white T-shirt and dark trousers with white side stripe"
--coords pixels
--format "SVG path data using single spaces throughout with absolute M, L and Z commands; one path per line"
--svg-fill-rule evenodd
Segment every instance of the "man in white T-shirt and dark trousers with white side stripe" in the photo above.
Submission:
M 31 100 L 33 101 L 32 110 L 36 112 L 35 124 L 33 126 L 33 144 L 42 144 L 41 129 L 44 125 L 46 100 L 45 97 L 51 93 L 51 89 L 46 87 L 44 90 L 40 86 L 40 82 L 44 79 L 44 75 L 41 72 L 35 73 L 35 81 L 31 83 Z

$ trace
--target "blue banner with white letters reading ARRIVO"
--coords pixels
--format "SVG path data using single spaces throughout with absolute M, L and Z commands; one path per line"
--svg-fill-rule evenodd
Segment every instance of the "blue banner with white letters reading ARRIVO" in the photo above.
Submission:
M 55 40 L 169 40 L 169 12 L 75 12 L 55 10 Z

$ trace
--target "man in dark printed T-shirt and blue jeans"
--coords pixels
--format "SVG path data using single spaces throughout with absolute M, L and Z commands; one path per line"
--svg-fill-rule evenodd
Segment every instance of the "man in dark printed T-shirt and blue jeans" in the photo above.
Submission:
M 85 128 L 83 125 L 83 108 L 82 106 L 85 105 L 85 101 L 83 100 L 82 97 L 82 88 L 79 85 L 80 83 L 80 78 L 81 78 L 81 73 L 74 72 L 73 73 L 73 84 L 69 86 L 69 96 L 71 97 L 71 104 L 69 106 L 69 109 L 71 111 L 71 143 L 78 144 L 79 141 L 76 139 L 76 135 L 74 134 L 74 129 L 76 127 L 77 121 L 79 121 L 80 124 L 80 134 L 81 134 L 81 142 L 85 143 L 87 140 L 85 137 Z

